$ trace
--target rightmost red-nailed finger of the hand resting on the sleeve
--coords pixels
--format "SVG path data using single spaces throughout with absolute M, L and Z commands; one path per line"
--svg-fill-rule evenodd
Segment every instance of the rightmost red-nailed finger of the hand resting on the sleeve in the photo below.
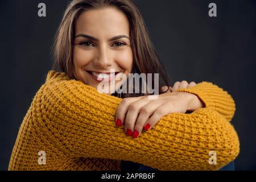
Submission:
M 170 108 L 172 107 L 173 104 L 171 104 L 171 102 L 160 105 L 152 114 L 152 116 L 148 119 L 148 121 L 144 124 L 144 130 L 152 129 L 152 127 L 154 127 L 162 117 L 171 113 Z

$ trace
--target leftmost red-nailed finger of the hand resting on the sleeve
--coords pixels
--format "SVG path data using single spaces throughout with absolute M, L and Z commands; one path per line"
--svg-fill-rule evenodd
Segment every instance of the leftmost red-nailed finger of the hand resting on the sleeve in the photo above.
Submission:
M 139 100 L 139 97 L 123 98 L 120 102 L 115 114 L 115 124 L 117 126 L 121 126 L 123 124 L 129 105 L 136 100 Z

